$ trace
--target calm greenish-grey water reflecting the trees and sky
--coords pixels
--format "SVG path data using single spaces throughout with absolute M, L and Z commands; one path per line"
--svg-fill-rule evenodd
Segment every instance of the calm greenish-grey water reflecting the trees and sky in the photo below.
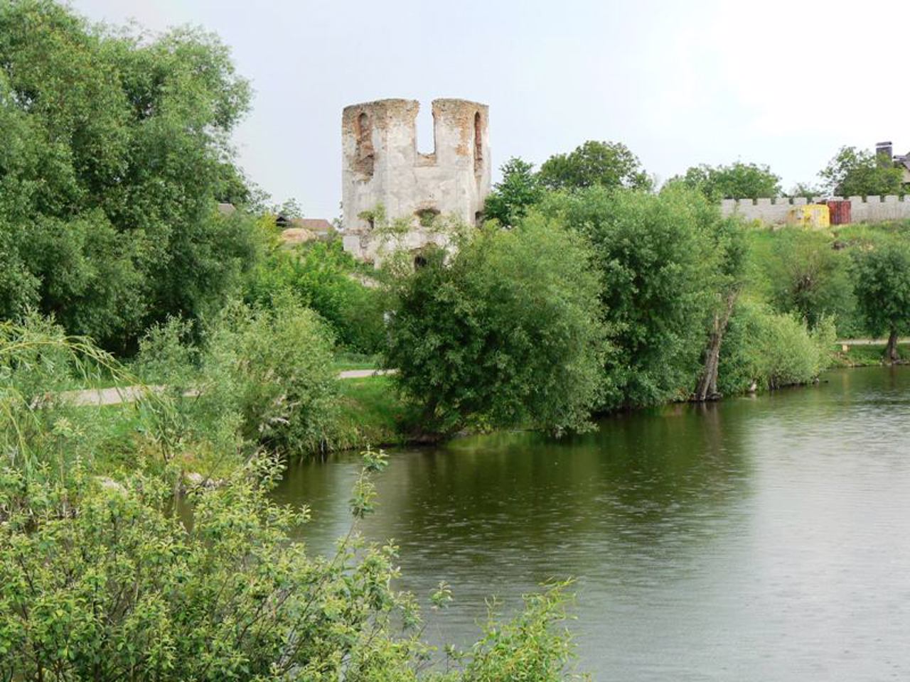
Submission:
M 597 680 L 910 678 L 910 367 L 389 451 L 368 537 L 401 587 L 455 602 L 428 635 L 476 638 L 484 598 L 575 577 L 578 667 Z M 349 527 L 355 456 L 293 466 L 325 552 Z

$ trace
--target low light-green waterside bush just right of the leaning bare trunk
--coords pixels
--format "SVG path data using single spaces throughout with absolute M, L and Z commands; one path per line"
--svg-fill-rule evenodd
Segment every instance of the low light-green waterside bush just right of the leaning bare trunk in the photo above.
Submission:
M 807 384 L 828 365 L 834 322 L 823 317 L 810 332 L 797 316 L 774 313 L 748 298 L 733 310 L 718 376 L 724 395 Z

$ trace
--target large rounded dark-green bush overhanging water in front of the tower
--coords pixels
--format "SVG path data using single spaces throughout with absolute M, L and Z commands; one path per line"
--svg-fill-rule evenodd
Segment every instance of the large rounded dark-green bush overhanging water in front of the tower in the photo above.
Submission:
M 581 239 L 541 216 L 488 226 L 447 261 L 399 276 L 388 366 L 427 426 L 577 429 L 600 396 L 596 274 Z

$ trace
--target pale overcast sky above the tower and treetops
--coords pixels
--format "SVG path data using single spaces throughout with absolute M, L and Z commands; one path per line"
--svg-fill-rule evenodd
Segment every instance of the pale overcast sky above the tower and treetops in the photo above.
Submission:
M 666 179 L 768 164 L 814 181 L 841 145 L 910 151 L 906 0 L 72 0 L 152 30 L 202 25 L 256 90 L 240 163 L 277 202 L 339 215 L 344 105 L 490 105 L 493 163 L 620 141 Z M 424 119 L 423 115 L 427 118 Z M 495 176 L 494 176 L 495 179 Z

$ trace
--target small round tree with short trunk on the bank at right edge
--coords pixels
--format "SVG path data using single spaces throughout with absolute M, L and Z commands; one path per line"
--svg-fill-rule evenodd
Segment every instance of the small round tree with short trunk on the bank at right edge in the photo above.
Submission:
M 868 331 L 887 333 L 885 360 L 896 362 L 898 335 L 910 331 L 910 246 L 889 239 L 857 251 L 854 282 Z

